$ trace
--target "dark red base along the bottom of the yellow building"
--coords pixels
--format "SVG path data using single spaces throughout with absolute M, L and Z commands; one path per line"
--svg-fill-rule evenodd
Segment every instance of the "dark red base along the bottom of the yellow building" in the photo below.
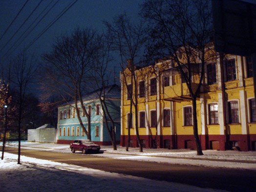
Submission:
M 138 147 L 136 135 L 130 136 L 130 147 Z M 254 135 L 199 135 L 203 150 L 241 151 L 256 150 L 256 134 Z M 120 145 L 127 145 L 128 136 L 121 135 Z M 140 135 L 144 148 L 196 149 L 193 135 Z

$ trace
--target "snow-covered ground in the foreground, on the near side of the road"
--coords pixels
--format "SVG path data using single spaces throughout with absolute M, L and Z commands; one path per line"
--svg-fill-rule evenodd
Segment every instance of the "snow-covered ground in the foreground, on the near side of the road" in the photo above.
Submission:
M 1 192 L 213 192 L 185 184 L 170 183 L 94 170 L 5 153 L 0 160 Z

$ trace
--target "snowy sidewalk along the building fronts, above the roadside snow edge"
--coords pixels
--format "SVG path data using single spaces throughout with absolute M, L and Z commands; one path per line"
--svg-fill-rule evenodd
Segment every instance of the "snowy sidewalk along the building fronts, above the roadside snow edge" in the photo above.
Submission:
M 9 147 L 18 147 L 17 142 L 6 143 Z M 22 142 L 21 148 L 31 148 L 39 150 L 59 150 L 62 152 L 70 152 L 69 145 L 54 144 L 54 143 L 34 143 Z M 187 160 L 204 160 L 217 162 L 236 162 L 236 163 L 251 163 L 256 167 L 256 151 L 235 151 L 235 150 L 204 150 L 204 155 L 196 155 L 196 150 L 190 149 L 143 149 L 139 152 L 139 148 L 129 148 L 126 151 L 125 147 L 118 146 L 117 150 L 113 150 L 112 146 L 101 146 L 101 150 L 105 154 L 129 155 L 129 156 L 148 156 L 162 157 L 172 159 L 187 159 Z M 103 153 L 103 154 L 104 154 Z M 101 154 L 102 155 L 102 154 Z M 109 156 L 109 155 L 108 155 Z

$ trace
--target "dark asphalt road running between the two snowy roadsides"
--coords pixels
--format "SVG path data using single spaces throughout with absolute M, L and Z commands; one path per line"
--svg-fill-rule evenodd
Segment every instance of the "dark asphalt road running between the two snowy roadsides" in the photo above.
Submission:
M 6 152 L 17 154 L 17 149 Z M 82 153 L 21 149 L 21 155 L 201 188 L 256 192 L 256 171 L 119 160 Z M 22 162 L 21 162 L 22 163 Z M 221 163 L 221 162 L 220 162 Z

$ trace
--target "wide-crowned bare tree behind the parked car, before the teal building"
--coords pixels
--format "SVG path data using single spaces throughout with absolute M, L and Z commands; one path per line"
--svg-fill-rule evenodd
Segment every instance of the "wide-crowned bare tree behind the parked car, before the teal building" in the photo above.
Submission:
M 91 117 L 89 107 L 83 102 L 85 90 L 89 89 L 89 70 L 93 64 L 94 54 L 98 50 L 98 35 L 95 31 L 77 29 L 70 36 L 63 36 L 53 44 L 51 53 L 43 55 L 45 78 L 42 79 L 43 90 L 49 95 L 58 94 L 74 107 L 81 127 L 87 139 L 91 139 Z M 81 119 L 79 106 L 87 118 L 87 129 Z

